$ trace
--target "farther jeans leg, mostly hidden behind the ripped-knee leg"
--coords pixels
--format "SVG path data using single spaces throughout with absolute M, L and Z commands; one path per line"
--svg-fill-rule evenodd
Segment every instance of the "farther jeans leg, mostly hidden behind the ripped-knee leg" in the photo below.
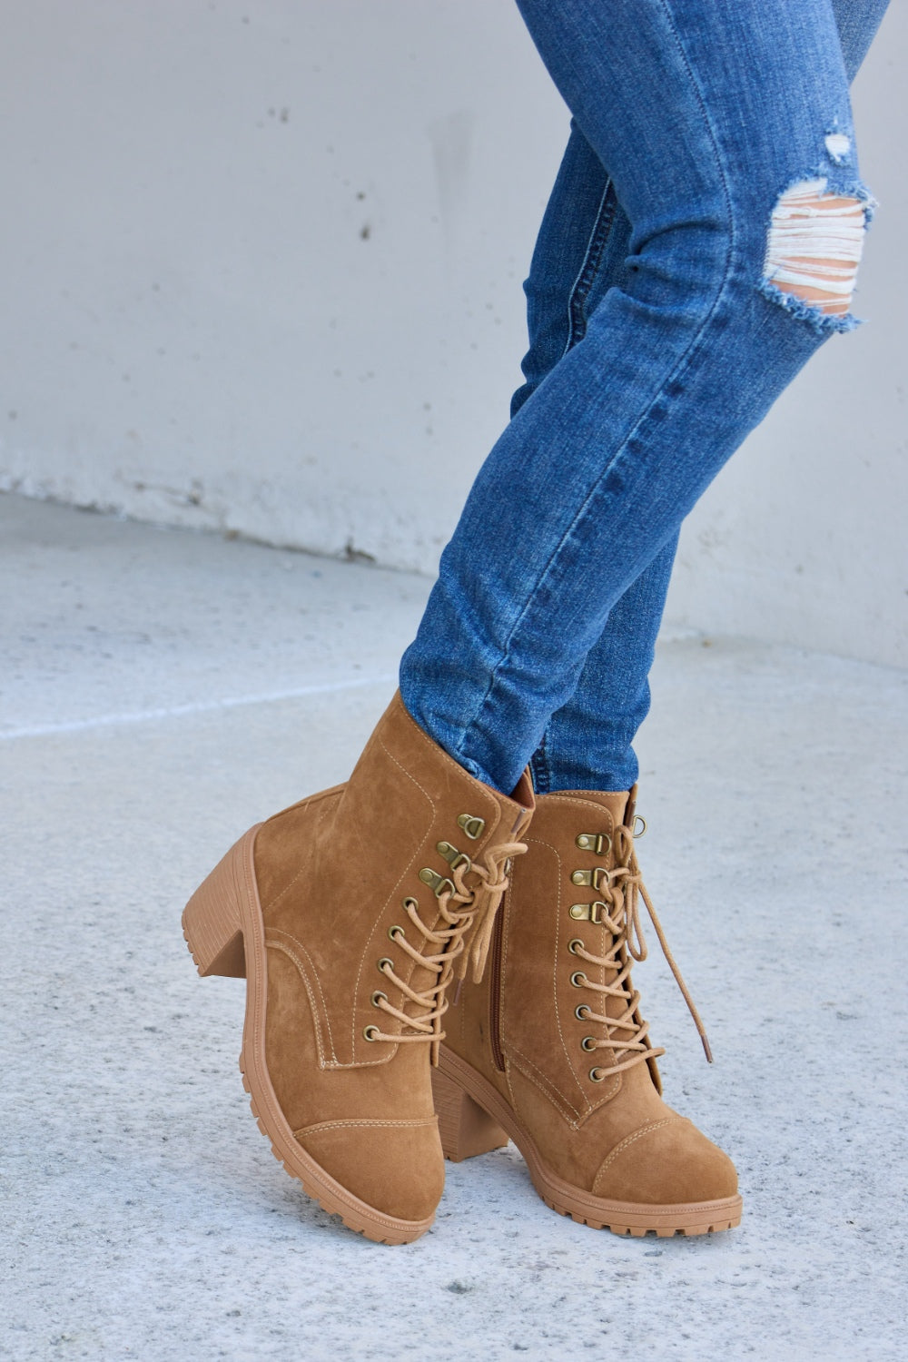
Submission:
M 833 0 L 848 82 L 856 75 L 888 0 Z M 527 291 L 525 383 L 510 414 L 583 339 L 610 287 L 622 287 L 630 223 L 614 184 L 576 124 L 539 229 Z M 674 565 L 677 537 L 628 587 L 580 681 L 553 714 L 531 765 L 540 794 L 628 790 L 637 780 L 633 741 L 649 711 L 649 669 Z

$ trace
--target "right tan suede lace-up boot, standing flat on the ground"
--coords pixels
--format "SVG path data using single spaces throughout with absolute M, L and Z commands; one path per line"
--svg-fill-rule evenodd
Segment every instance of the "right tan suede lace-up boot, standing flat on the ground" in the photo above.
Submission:
M 510 1137 L 542 1199 L 618 1234 L 738 1224 L 730 1159 L 666 1106 L 630 981 L 645 956 L 636 789 L 538 799 L 482 985 L 459 989 L 433 1073 L 441 1140 L 464 1159 Z M 709 1049 L 704 1036 L 704 1046 Z

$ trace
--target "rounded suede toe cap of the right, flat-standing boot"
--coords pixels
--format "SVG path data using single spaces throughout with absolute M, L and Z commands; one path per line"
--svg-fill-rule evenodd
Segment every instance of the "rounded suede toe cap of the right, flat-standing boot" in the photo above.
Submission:
M 617 1144 L 600 1163 L 592 1190 L 648 1205 L 721 1201 L 736 1194 L 738 1174 L 728 1155 L 692 1121 L 672 1115 Z

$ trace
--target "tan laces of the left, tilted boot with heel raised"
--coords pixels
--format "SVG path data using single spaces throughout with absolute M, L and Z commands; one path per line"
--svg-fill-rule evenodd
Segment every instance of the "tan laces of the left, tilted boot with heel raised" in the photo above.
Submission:
M 393 940 L 414 964 L 432 970 L 436 981 L 421 993 L 411 989 L 396 974 L 391 960 L 385 960 L 381 964 L 381 972 L 395 989 L 400 989 L 406 1002 L 412 1004 L 412 1008 L 417 1009 L 417 1015 L 410 1011 L 404 1012 L 403 1007 L 393 1007 L 381 994 L 376 1007 L 410 1028 L 411 1034 L 389 1034 L 377 1027 L 369 1027 L 373 1032 L 370 1039 L 389 1041 L 395 1045 L 414 1041 L 429 1042 L 432 1045 L 432 1062 L 438 1062 L 438 1047 L 445 1038 L 441 1019 L 448 1011 L 445 996 L 448 985 L 455 977 L 459 979 L 466 977 L 470 962 L 472 962 L 474 981 L 479 983 L 482 979 L 496 913 L 510 883 L 508 880 L 510 861 L 525 850 L 524 842 L 506 842 L 490 849 L 485 855 L 485 864 L 470 862 L 467 858 L 461 864 L 455 864 L 447 877 L 451 888 L 444 888 L 434 900 L 444 923 L 434 930 L 427 928 L 419 917 L 415 899 L 403 900 L 404 913 L 422 940 L 414 945 L 403 930 L 395 933 Z M 467 874 L 478 877 L 479 884 L 471 888 L 466 883 Z M 430 951 L 434 953 L 429 953 Z M 460 960 L 460 966 L 455 970 L 457 960 Z

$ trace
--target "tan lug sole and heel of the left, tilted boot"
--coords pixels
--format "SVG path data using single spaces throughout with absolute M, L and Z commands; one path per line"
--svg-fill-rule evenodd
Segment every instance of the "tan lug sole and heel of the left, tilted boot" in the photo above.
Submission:
M 253 847 L 260 824 L 227 851 L 196 889 L 182 914 L 182 934 L 199 974 L 246 979 L 240 1072 L 249 1107 L 271 1152 L 323 1211 L 376 1244 L 411 1244 L 430 1229 L 426 1220 L 385 1215 L 348 1192 L 293 1137 L 265 1061 L 265 930 L 256 887 Z

